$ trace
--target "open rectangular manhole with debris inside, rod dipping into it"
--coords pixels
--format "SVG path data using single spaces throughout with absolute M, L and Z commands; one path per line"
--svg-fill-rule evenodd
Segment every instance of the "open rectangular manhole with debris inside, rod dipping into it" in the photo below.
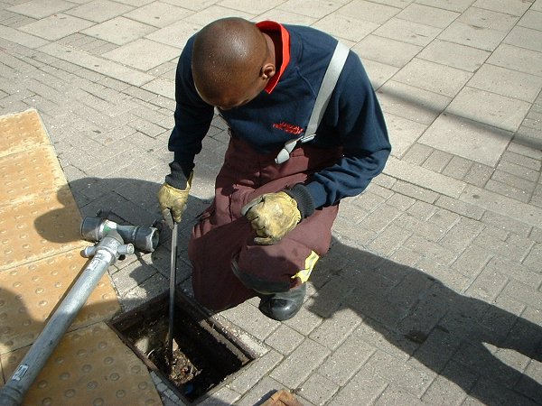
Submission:
M 185 403 L 197 401 L 254 355 L 237 337 L 179 291 L 175 295 L 172 366 L 166 358 L 169 293 L 109 322 L 126 346 Z

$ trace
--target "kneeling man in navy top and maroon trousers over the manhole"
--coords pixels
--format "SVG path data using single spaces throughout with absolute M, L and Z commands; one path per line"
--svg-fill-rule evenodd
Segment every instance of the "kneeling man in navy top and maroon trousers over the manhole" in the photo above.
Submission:
M 304 134 L 336 44 L 309 27 L 226 18 L 182 51 L 169 141 L 174 161 L 158 199 L 164 218 L 181 221 L 194 156 L 217 107 L 229 147 L 215 198 L 189 243 L 194 295 L 210 309 L 259 296 L 267 317 L 294 317 L 314 263 L 329 249 L 341 198 L 360 194 L 384 168 L 386 125 L 352 52 L 314 139 L 275 161 L 287 141 Z

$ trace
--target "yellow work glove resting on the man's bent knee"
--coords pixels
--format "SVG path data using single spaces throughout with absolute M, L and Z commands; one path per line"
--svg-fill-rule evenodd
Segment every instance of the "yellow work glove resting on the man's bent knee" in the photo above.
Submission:
M 258 245 L 273 245 L 294 229 L 301 221 L 297 202 L 284 191 L 266 193 L 250 201 L 241 209 L 257 237 Z

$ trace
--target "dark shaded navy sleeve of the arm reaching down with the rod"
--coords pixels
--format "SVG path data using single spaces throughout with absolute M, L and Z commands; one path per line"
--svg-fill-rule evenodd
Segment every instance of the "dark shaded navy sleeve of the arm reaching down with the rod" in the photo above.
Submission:
M 177 64 L 175 76 L 175 125 L 169 138 L 168 149 L 173 152 L 170 164 L 173 180 L 190 176 L 194 167 L 194 158 L 201 152 L 201 141 L 209 131 L 214 107 L 208 105 L 198 95 L 192 78 L 192 44 L 190 39 Z M 182 171 L 182 173 L 178 173 Z M 175 173 L 177 172 L 177 173 Z M 166 181 L 169 180 L 166 179 Z M 170 183 L 171 184 L 171 183 Z M 182 185 L 174 185 L 179 187 Z

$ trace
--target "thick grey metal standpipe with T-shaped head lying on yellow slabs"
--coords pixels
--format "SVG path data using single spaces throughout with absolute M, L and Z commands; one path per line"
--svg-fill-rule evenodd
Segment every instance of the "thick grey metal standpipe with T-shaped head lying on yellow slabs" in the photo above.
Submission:
M 87 218 L 89 217 L 86 217 L 85 220 Z M 84 226 L 81 226 L 81 235 L 87 239 L 96 236 L 99 240 L 98 245 L 85 249 L 83 252 L 84 256 L 93 256 L 93 258 L 81 272 L 79 279 L 73 284 L 64 300 L 61 301 L 60 306 L 53 313 L 33 346 L 24 355 L 23 361 L 17 366 L 11 379 L 0 389 L 0 406 L 17 406 L 22 403 L 25 393 L 28 392 L 42 371 L 43 366 L 58 346 L 74 318 L 77 317 L 79 310 L 89 299 L 90 293 L 96 288 L 109 265 L 115 263 L 120 255 L 134 254 L 134 245 L 125 245 L 125 240 L 119 233 L 119 227 L 116 223 L 103 219 L 97 222 L 92 217 L 87 220 L 87 223 L 85 220 L 83 221 Z M 89 224 L 97 228 L 93 231 L 89 228 Z M 150 249 L 150 252 L 154 251 L 158 243 L 155 228 L 122 227 L 128 240 L 137 240 L 139 245 Z M 83 233 L 83 228 L 85 233 Z M 142 234 L 142 229 L 146 230 L 147 235 Z

